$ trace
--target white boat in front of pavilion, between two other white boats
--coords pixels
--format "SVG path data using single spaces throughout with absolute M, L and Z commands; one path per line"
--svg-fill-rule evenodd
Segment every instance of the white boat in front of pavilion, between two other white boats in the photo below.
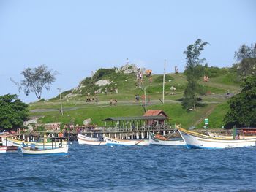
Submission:
M 147 139 L 127 139 L 127 140 L 121 140 L 121 139 L 112 139 L 109 137 L 105 137 L 105 141 L 107 142 L 107 145 L 124 145 L 124 146 L 132 146 L 132 145 L 149 145 L 149 142 Z

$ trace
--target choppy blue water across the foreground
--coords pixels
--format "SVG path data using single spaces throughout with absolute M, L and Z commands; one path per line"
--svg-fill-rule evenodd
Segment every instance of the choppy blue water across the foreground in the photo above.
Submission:
M 86 146 L 0 154 L 0 191 L 256 191 L 256 148 Z

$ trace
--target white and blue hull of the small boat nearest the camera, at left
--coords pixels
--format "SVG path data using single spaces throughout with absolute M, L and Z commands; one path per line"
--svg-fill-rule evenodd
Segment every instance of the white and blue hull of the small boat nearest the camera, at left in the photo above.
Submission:
M 67 155 L 69 147 L 45 149 L 45 150 L 31 150 L 29 147 L 20 147 L 23 155 Z

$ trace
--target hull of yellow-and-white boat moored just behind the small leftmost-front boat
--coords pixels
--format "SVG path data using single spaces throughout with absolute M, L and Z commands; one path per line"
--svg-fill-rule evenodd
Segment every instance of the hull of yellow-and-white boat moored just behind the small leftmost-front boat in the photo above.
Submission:
M 54 142 L 54 144 L 52 144 L 52 142 L 45 142 L 45 143 L 44 142 L 25 142 L 17 139 L 12 139 L 12 138 L 2 138 L 2 141 L 4 145 L 7 144 L 7 146 L 16 146 L 16 147 L 22 147 L 23 143 L 24 145 L 26 145 L 26 147 L 31 147 L 31 144 L 34 144 L 40 150 L 56 148 L 56 147 L 59 147 L 59 144 L 61 143 L 61 142 Z M 67 145 L 67 142 L 62 141 L 62 145 Z

